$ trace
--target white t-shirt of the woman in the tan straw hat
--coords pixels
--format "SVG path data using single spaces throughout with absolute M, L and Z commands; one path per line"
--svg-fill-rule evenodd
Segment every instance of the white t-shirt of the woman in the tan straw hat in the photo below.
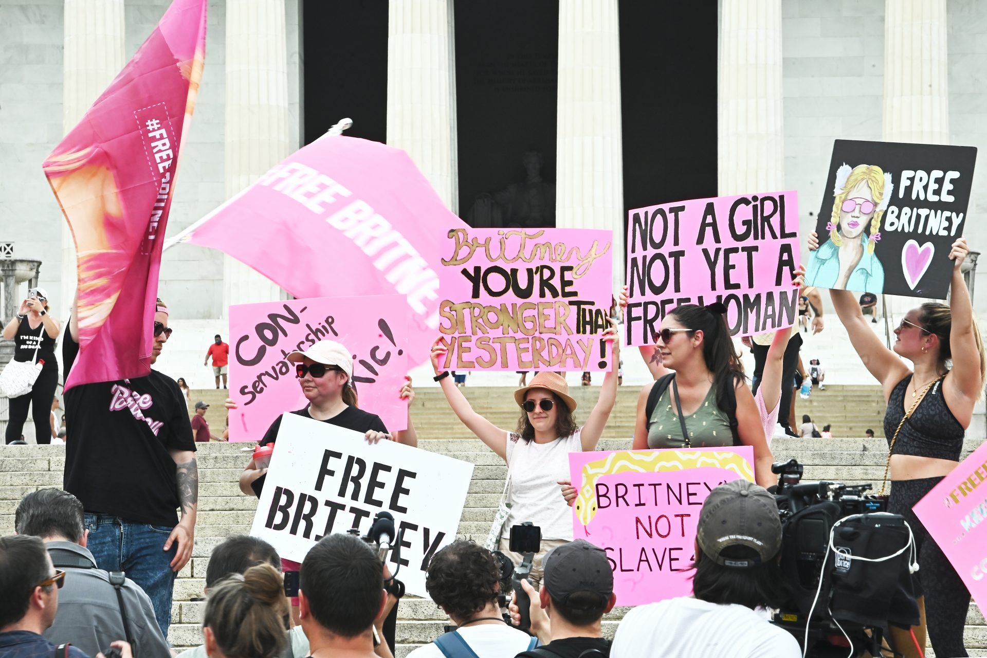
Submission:
M 525 441 L 507 433 L 507 467 L 510 474 L 510 516 L 502 537 L 510 527 L 530 521 L 542 529 L 543 540 L 572 541 L 572 508 L 562 497 L 561 479 L 569 479 L 569 453 L 582 452 L 582 428 L 552 443 Z

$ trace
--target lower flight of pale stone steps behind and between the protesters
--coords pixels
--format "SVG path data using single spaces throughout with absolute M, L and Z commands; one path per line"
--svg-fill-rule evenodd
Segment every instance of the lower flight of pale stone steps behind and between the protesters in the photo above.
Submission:
M 873 393 L 873 387 L 857 387 L 859 391 L 851 390 L 853 387 L 849 386 L 845 388 L 848 394 L 860 394 L 861 397 L 868 391 Z M 837 387 L 834 386 L 833 389 Z M 491 407 L 498 407 L 499 413 L 504 417 L 513 414 L 512 409 L 509 412 L 503 410 L 503 405 L 510 403 L 503 389 L 484 391 L 478 387 L 464 392 L 470 397 L 476 396 L 478 400 L 489 400 Z M 577 389 L 574 393 L 585 398 L 585 401 L 580 400 L 587 402 L 582 408 L 588 408 L 598 395 L 598 392 L 591 390 Z M 219 392 L 218 395 L 225 397 L 225 392 Z M 633 417 L 636 396 L 636 391 L 621 391 L 618 401 L 622 406 L 621 413 L 626 412 Z M 504 402 L 505 397 L 507 402 Z M 193 400 L 195 399 L 198 398 L 193 396 Z M 205 397 L 202 396 L 202 399 Z M 208 400 L 206 402 L 215 404 Z M 419 404 L 422 405 L 420 412 L 416 409 L 414 413 L 421 438 L 420 448 L 476 466 L 459 532 L 467 539 L 483 542 L 500 498 L 506 468 L 493 451 L 472 437 L 452 416 L 440 392 L 434 389 L 422 391 L 416 400 L 416 407 Z M 436 406 L 439 407 L 438 410 L 435 409 Z M 215 406 L 210 407 L 210 411 L 215 410 Z M 614 415 L 618 415 L 617 411 Z M 210 419 L 210 422 L 215 423 L 216 420 Z M 614 427 L 623 424 L 615 424 Z M 878 424 L 874 423 L 874 429 L 877 429 Z M 450 431 L 450 428 L 461 428 L 462 431 Z M 608 425 L 608 430 L 610 429 Z M 629 433 L 621 436 L 608 431 L 600 441 L 599 449 L 627 449 L 631 443 L 628 436 Z M 979 440 L 968 439 L 964 445 L 964 453 L 972 451 L 978 444 Z M 173 625 L 169 637 L 176 648 L 201 642 L 202 604 L 190 599 L 202 596 L 205 568 L 212 548 L 228 535 L 246 533 L 250 529 L 257 501 L 240 492 L 237 478 L 250 459 L 243 449 L 252 447 L 253 444 L 250 443 L 198 445 L 200 511 L 192 558 L 176 581 Z M 881 438 L 785 438 L 774 441 L 772 447 L 776 461 L 797 458 L 805 466 L 805 479 L 830 479 L 847 483 L 871 481 L 875 486 L 879 486 L 887 455 L 887 444 Z M 62 446 L 14 446 L 0 451 L 0 534 L 13 532 L 13 513 L 21 497 L 41 486 L 61 485 L 63 466 Z M 607 616 L 603 624 L 606 634 L 612 635 L 626 610 L 615 609 Z M 428 600 L 405 599 L 400 611 L 399 656 L 407 655 L 420 643 L 430 641 L 440 634 L 446 622 L 441 612 Z M 978 655 L 978 652 L 987 655 L 987 625 L 975 606 L 971 607 L 968 615 L 965 636 L 971 655 Z

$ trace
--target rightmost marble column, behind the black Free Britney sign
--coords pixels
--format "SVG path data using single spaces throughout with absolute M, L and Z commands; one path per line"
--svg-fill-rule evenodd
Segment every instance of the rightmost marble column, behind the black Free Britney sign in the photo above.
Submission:
M 884 3 L 884 141 L 949 144 L 946 4 L 946 0 Z M 892 321 L 924 301 L 884 296 Z

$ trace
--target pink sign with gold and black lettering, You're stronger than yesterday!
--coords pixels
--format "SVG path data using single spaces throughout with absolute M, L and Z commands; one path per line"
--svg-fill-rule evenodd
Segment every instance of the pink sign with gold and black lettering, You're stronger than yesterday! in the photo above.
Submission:
M 450 370 L 606 371 L 610 231 L 453 229 L 438 331 Z

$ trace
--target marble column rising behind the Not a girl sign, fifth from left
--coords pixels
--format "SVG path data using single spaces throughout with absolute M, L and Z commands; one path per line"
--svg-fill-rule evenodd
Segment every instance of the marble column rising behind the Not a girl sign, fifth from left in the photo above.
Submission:
M 722 0 L 719 194 L 785 188 L 781 0 Z

